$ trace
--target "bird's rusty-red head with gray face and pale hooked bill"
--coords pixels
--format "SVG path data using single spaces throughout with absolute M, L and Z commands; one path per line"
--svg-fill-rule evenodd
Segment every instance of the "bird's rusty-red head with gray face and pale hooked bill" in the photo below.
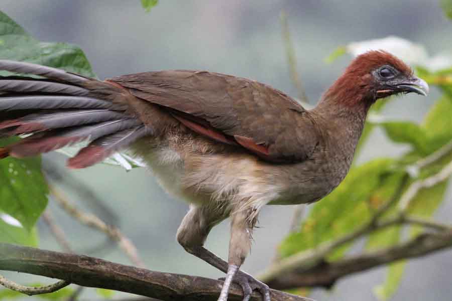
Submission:
M 325 93 L 325 98 L 348 106 L 369 107 L 377 99 L 414 92 L 426 96 L 427 83 L 413 75 L 402 60 L 385 51 L 356 57 Z

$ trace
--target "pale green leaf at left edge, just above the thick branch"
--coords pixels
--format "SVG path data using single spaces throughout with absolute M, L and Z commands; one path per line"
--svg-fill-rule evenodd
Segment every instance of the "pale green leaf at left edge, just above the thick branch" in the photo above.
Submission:
M 35 227 L 29 231 L 24 227 L 11 225 L 5 222 L 3 218 L 7 218 L 7 216 L 0 213 L 0 242 L 31 247 L 38 246 L 38 231 Z

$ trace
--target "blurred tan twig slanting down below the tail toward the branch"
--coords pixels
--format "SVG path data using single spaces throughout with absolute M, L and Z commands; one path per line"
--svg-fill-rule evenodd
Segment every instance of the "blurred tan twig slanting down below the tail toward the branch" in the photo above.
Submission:
M 49 190 L 55 198 L 55 201 L 63 208 L 69 215 L 77 219 L 83 225 L 99 230 L 110 238 L 118 242 L 120 248 L 126 253 L 130 260 L 138 267 L 144 267 L 145 264 L 138 255 L 137 248 L 132 241 L 124 236 L 121 231 L 115 226 L 109 226 L 100 220 L 97 216 L 89 213 L 82 212 L 69 203 L 64 195 L 56 189 L 53 185 L 49 184 Z

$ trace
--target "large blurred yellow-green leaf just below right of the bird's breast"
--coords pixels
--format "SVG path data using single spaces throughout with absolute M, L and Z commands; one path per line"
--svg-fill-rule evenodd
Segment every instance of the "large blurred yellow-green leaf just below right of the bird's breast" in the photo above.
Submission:
M 300 231 L 290 234 L 281 243 L 282 257 L 293 255 L 340 237 L 369 221 L 373 208 L 369 199 L 385 186 L 392 172 L 392 161 L 379 159 L 353 168 L 346 179 L 331 194 L 313 205 Z M 392 180 L 391 180 L 392 181 Z M 385 200 L 375 200 L 378 207 Z M 330 260 L 341 257 L 347 248 L 331 254 Z

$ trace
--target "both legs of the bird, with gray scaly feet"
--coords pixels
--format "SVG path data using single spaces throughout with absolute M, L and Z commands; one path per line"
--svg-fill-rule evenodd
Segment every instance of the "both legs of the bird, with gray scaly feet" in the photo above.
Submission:
M 224 261 L 203 246 L 210 229 L 227 217 L 228 213 L 208 214 L 212 212 L 206 207 L 190 206 L 189 212 L 185 215 L 177 231 L 177 240 L 187 252 L 227 273 L 218 301 L 227 300 L 231 282 L 242 287 L 244 301 L 250 299 L 254 289 L 262 293 L 264 301 L 270 301 L 268 285 L 239 269 L 251 247 L 252 227 L 250 226 L 252 223 L 250 224 L 247 220 L 246 212 L 248 211 L 244 210 L 232 214 L 229 262 Z

